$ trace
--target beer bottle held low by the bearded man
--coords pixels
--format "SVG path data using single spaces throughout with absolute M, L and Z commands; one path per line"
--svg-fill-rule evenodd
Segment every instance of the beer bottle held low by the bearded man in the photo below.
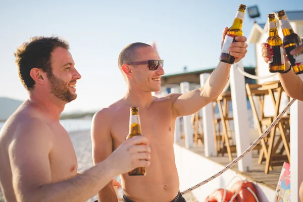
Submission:
M 141 134 L 140 117 L 137 107 L 130 108 L 129 117 L 129 133 L 126 139 L 132 138 Z M 128 175 L 146 175 L 145 167 L 136 168 L 128 173 Z

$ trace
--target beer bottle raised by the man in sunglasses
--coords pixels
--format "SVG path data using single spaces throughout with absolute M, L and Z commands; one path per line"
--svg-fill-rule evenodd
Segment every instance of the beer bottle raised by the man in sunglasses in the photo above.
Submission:
M 245 13 L 246 6 L 240 4 L 238 12 L 236 14 L 236 17 L 234 19 L 234 22 L 232 26 L 227 30 L 222 50 L 221 50 L 221 56 L 220 61 L 224 63 L 234 64 L 235 57 L 231 56 L 229 54 L 228 48 L 232 42 L 235 42 L 236 36 L 242 36 L 242 24 L 244 19 L 244 13 Z

